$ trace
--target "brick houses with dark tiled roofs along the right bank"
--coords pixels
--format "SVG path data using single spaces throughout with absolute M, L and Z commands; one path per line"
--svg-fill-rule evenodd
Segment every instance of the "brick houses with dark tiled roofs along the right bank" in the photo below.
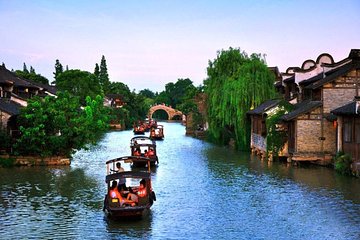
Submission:
M 289 161 L 327 164 L 337 151 L 343 150 L 351 154 L 354 161 L 360 161 L 355 135 L 357 127 L 360 129 L 360 120 L 357 126 L 359 115 L 354 110 L 359 87 L 359 49 L 352 49 L 347 58 L 337 63 L 324 53 L 316 61 L 306 60 L 301 67 L 290 67 L 282 73 L 275 88 L 294 105 L 294 110 L 282 117 L 282 128 L 287 131 L 284 156 Z M 252 121 L 251 147 L 262 154 L 266 149 L 264 123 L 272 108 L 276 108 L 276 104 L 269 100 L 248 112 Z

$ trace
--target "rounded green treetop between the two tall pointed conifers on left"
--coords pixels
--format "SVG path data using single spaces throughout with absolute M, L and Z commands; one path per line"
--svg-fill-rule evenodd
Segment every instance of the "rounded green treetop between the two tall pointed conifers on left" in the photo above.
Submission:
M 103 95 L 95 75 L 78 69 L 59 74 L 56 78 L 56 87 L 60 91 L 68 91 L 74 96 L 79 96 L 82 104 L 85 104 L 87 96 L 95 98 L 96 95 Z

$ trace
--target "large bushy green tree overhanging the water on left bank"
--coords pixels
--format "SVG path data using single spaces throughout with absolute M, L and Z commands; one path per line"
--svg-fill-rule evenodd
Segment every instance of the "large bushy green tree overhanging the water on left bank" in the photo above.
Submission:
M 84 109 L 79 98 L 67 92 L 60 92 L 57 98 L 33 98 L 21 110 L 21 137 L 14 151 L 22 155 L 70 156 L 99 139 L 108 127 L 107 115 L 101 96 L 87 97 Z

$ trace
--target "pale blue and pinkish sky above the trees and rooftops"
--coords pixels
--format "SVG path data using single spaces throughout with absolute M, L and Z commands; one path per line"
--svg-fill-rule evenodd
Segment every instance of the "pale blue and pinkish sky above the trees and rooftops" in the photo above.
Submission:
M 359 0 L 0 0 L 0 62 L 25 62 L 53 80 L 55 60 L 93 72 L 104 55 L 111 81 L 136 91 L 206 79 L 217 51 L 266 54 L 284 72 L 360 48 Z

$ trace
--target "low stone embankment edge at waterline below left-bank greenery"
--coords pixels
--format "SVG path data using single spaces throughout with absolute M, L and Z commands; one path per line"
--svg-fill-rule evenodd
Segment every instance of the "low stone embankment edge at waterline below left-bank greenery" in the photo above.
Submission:
M 35 157 L 0 155 L 0 167 L 70 165 L 71 159 L 63 156 Z

